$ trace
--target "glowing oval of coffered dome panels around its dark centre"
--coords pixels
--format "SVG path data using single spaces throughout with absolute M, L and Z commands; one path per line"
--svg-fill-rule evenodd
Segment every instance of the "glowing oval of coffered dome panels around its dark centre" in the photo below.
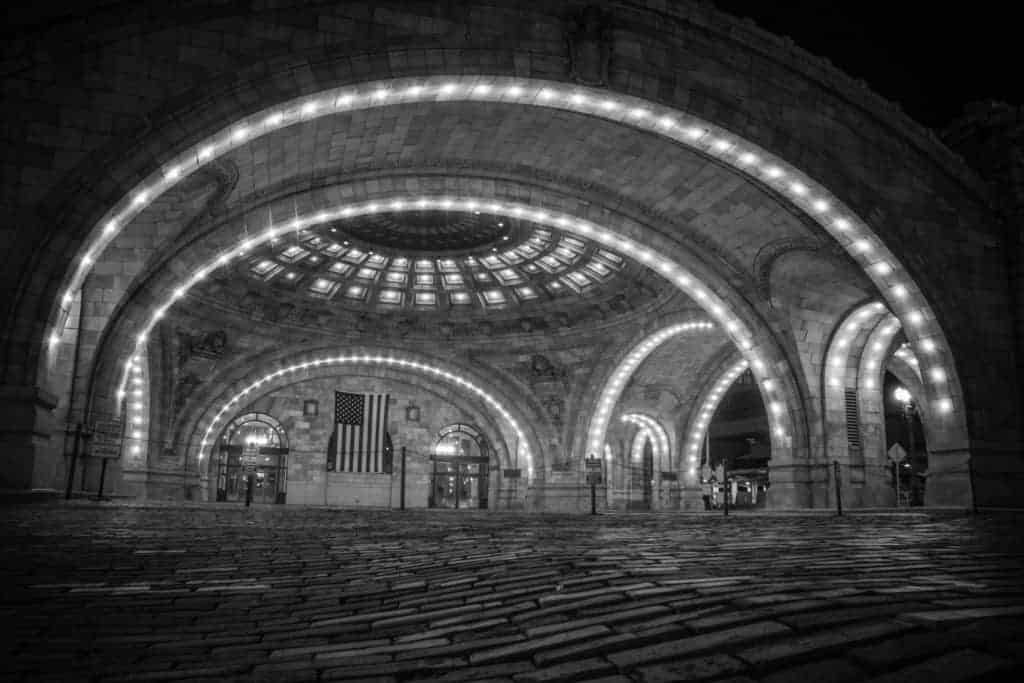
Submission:
M 379 310 L 504 309 L 622 289 L 621 255 L 480 214 L 375 214 L 262 245 L 236 274 L 278 293 Z

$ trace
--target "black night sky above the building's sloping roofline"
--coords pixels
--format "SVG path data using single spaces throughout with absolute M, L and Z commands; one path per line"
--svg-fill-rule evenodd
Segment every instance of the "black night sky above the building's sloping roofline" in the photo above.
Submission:
M 1024 26 L 1016 3 L 716 0 L 771 33 L 827 57 L 941 129 L 979 99 L 1024 103 Z M 911 9 L 915 11 L 911 11 Z

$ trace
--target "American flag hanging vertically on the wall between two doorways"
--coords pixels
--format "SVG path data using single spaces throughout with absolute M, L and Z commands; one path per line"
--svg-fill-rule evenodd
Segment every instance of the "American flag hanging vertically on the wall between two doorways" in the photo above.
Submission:
M 386 393 L 334 392 L 334 461 L 339 472 L 384 472 Z

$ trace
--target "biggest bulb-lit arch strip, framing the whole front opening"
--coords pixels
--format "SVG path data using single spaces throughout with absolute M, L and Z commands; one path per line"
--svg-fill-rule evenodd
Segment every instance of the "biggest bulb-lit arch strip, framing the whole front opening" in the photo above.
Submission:
M 630 125 L 668 137 L 755 178 L 784 197 L 829 232 L 863 268 L 898 311 L 911 341 L 931 367 L 945 368 L 941 383 L 926 384 L 936 413 L 964 422 L 958 379 L 942 330 L 928 302 L 895 255 L 848 207 L 823 186 L 767 151 L 694 116 L 633 95 L 540 79 L 495 76 L 431 76 L 346 85 L 275 104 L 226 126 L 180 153 L 136 185 L 94 226 L 82 250 L 46 337 L 50 349 L 60 340 L 68 308 L 99 254 L 123 225 L 156 198 L 197 169 L 252 139 L 281 128 L 331 114 L 414 102 L 489 101 L 571 111 Z M 67 275 L 66 275 L 67 278 Z M 54 319 L 55 318 L 55 319 Z M 904 322 L 905 321 L 905 322 Z M 909 323 L 909 325 L 906 325 Z M 47 354 L 44 354 L 44 361 Z M 963 428 L 963 425 L 958 425 Z

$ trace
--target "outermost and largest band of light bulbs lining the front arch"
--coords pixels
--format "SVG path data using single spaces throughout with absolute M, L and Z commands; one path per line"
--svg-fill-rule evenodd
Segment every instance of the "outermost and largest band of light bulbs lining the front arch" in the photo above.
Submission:
M 926 338 L 939 340 L 940 350 L 938 353 L 932 354 L 929 361 L 947 368 L 949 386 L 939 388 L 928 385 L 930 399 L 936 401 L 937 411 L 945 414 L 947 421 L 955 419 L 961 427 L 964 426 L 963 404 L 958 382 L 954 374 L 955 369 L 949 357 L 948 345 L 934 319 L 934 313 L 924 301 L 916 286 L 909 282 L 902 264 L 859 218 L 842 205 L 838 198 L 818 186 L 797 169 L 781 160 L 772 158 L 769 153 L 707 122 L 636 98 L 582 87 L 565 89 L 560 84 L 553 82 L 474 77 L 424 79 L 412 84 L 408 81 L 392 81 L 384 85 L 375 84 L 366 91 L 357 88 L 341 89 L 331 97 L 324 97 L 322 93 L 317 99 L 307 98 L 301 104 L 290 102 L 286 109 L 272 108 L 249 117 L 245 122 L 229 126 L 218 136 L 211 138 L 216 141 L 216 144 L 204 142 L 202 145 L 197 145 L 195 150 L 188 150 L 179 155 L 178 158 L 151 176 L 147 181 L 137 186 L 129 197 L 126 197 L 117 208 L 113 209 L 95 228 L 95 241 L 90 244 L 80 259 L 75 274 L 71 275 L 68 293 L 61 297 L 61 301 L 70 303 L 74 290 L 77 289 L 85 274 L 90 271 L 95 261 L 95 255 L 101 252 L 110 237 L 117 232 L 121 224 L 130 222 L 152 201 L 155 195 L 165 191 L 182 174 L 187 175 L 202 166 L 205 163 L 204 158 L 219 156 L 227 148 L 233 148 L 233 146 L 245 142 L 250 136 L 258 134 L 261 130 L 265 132 L 266 129 L 284 125 L 283 119 L 286 114 L 291 117 L 303 117 L 316 115 L 315 112 L 321 106 L 333 106 L 335 110 L 339 106 L 349 109 L 353 98 L 359 98 L 359 102 L 367 106 L 379 104 L 377 99 L 391 99 L 392 101 L 400 101 L 402 98 L 415 99 L 424 90 L 430 90 L 430 95 L 433 97 L 444 97 L 460 88 L 463 89 L 463 92 L 458 93 L 457 96 L 463 98 L 519 100 L 526 97 L 531 103 L 538 103 L 538 98 L 547 99 L 545 95 L 553 93 L 550 96 L 554 97 L 555 101 L 548 101 L 542 105 L 577 109 L 586 111 L 592 116 L 617 117 L 617 120 L 623 122 L 627 121 L 627 117 L 632 117 L 637 120 L 632 121 L 631 125 L 638 128 L 649 126 L 649 130 L 657 130 L 676 141 L 690 144 L 699 148 L 703 154 L 734 167 L 746 167 L 744 172 L 785 197 L 804 212 L 815 216 L 826 230 L 831 232 L 841 244 L 844 244 L 848 253 L 865 269 L 883 295 L 899 300 L 899 305 L 896 306 L 898 313 L 908 318 L 910 326 L 904 327 L 913 331 L 910 335 L 913 341 Z M 769 162 L 767 164 L 761 163 L 764 159 L 768 159 Z M 56 311 L 54 311 L 55 314 Z M 51 325 L 53 319 L 51 317 Z M 50 339 L 54 338 L 59 339 L 57 332 L 51 333 Z M 957 399 L 955 402 L 953 396 Z

